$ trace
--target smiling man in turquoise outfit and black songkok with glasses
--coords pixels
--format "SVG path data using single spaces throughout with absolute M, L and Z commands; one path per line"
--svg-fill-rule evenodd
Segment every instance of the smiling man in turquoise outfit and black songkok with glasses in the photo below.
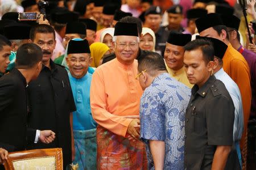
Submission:
M 79 169 L 96 169 L 96 122 L 90 110 L 90 83 L 92 74 L 88 67 L 92 62 L 87 40 L 70 40 L 67 49 L 69 80 L 77 110 L 73 112 L 73 134 L 75 139 L 74 164 Z

